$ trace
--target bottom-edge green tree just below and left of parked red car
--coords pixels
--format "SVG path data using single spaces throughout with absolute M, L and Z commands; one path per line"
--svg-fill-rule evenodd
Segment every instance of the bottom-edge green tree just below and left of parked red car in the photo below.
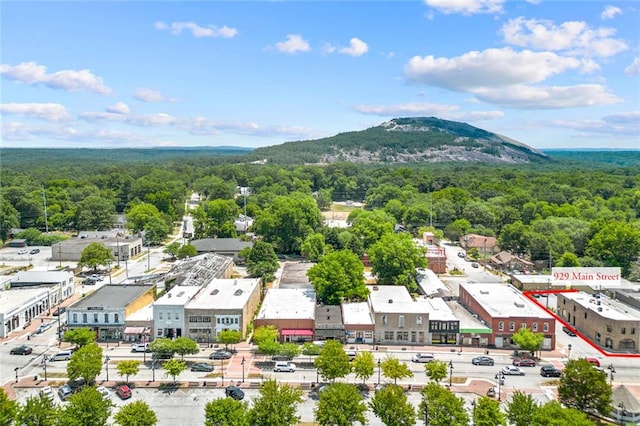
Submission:
M 104 399 L 94 387 L 83 388 L 71 395 L 68 401 L 58 416 L 58 425 L 104 426 L 108 423 L 113 403 Z

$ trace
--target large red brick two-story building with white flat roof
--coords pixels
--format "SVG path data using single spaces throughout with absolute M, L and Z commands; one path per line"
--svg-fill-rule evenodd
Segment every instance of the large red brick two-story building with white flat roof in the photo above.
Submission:
M 491 335 L 486 336 L 488 346 L 515 348 L 511 336 L 520 328 L 527 327 L 534 333 L 544 335 L 542 349 L 555 349 L 555 318 L 514 286 L 463 283 L 459 287 L 459 297 L 460 304 L 491 329 Z

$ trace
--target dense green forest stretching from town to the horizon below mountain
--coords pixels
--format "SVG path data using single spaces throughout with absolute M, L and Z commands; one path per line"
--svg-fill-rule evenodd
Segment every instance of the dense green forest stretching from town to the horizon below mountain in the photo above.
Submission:
M 362 252 L 371 229 L 338 231 L 318 220 L 331 202 L 354 200 L 384 215 L 373 223 L 384 217 L 415 234 L 431 223 L 451 240 L 496 236 L 503 249 L 534 261 L 620 266 L 640 278 L 640 152 L 558 151 L 547 162 L 519 165 L 318 166 L 249 164 L 233 150 L 157 151 L 3 149 L 3 241 L 13 228 L 28 229 L 32 239 L 45 230 L 53 238 L 105 229 L 116 213 L 132 232 L 162 241 L 196 191 L 206 199 L 193 213 L 198 238 L 236 236 L 233 220 L 246 209 L 278 252 L 300 253 L 318 235 L 333 249 Z M 238 196 L 238 187 L 250 194 Z

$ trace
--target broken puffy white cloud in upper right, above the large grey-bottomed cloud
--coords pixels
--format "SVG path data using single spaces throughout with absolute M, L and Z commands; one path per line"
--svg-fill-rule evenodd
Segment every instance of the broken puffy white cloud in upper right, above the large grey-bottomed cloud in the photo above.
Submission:
M 580 21 L 558 26 L 549 20 L 519 17 L 510 19 L 500 32 L 508 44 L 571 55 L 609 57 L 628 49 L 625 42 L 611 37 L 615 29 L 592 29 Z

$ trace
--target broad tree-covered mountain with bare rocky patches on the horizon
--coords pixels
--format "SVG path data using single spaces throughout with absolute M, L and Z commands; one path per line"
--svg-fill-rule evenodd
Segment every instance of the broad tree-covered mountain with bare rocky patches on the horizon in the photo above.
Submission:
M 467 123 L 435 117 L 395 118 L 362 131 L 257 148 L 251 160 L 295 163 L 538 163 L 550 157 Z

